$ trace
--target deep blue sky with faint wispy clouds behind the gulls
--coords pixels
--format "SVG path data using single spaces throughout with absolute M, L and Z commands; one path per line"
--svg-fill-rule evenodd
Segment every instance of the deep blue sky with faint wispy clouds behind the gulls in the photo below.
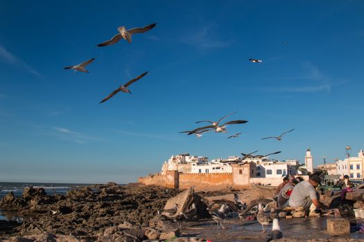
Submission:
M 184 152 L 304 161 L 311 148 L 315 165 L 345 145 L 355 154 L 363 12 L 363 1 L 2 1 L 0 181 L 135 182 Z M 155 22 L 132 44 L 95 46 Z M 63 69 L 91 57 L 90 73 Z M 132 95 L 98 104 L 144 71 Z M 229 133 L 177 133 L 234 111 L 249 122 Z

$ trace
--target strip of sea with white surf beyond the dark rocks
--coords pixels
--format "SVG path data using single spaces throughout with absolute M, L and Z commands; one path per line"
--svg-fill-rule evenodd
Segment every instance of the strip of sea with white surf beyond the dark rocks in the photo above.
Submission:
M 46 191 L 46 194 L 66 194 L 67 191 L 80 186 L 91 184 L 74 184 L 74 183 L 0 183 L 0 199 L 6 196 L 9 192 L 12 192 L 15 196 L 21 196 L 23 189 L 33 186 L 42 187 Z M 8 220 L 5 216 L 1 215 L 0 220 Z

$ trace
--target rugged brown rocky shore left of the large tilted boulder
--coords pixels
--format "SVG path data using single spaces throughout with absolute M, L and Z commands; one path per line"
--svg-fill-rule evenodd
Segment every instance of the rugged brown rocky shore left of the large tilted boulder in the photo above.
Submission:
M 179 192 L 179 189 L 110 183 L 72 189 L 66 195 L 47 195 L 42 188 L 29 187 L 21 197 L 10 192 L 1 200 L 3 214 L 21 217 L 22 223 L 2 221 L 0 235 L 46 232 L 49 236 L 67 234 L 88 241 L 159 239 L 164 232 L 175 232 L 175 226 L 155 221 L 153 228 L 150 221 L 158 210 L 163 210 L 168 198 Z

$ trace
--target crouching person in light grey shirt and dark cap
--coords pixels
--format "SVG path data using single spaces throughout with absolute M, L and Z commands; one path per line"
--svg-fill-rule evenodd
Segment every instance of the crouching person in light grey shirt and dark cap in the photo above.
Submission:
M 320 183 L 320 176 L 313 174 L 308 181 L 305 180 L 295 185 L 288 200 L 290 207 L 304 207 L 304 209 L 310 210 L 310 214 L 322 207 L 323 204 L 320 203 L 319 194 L 315 189 Z

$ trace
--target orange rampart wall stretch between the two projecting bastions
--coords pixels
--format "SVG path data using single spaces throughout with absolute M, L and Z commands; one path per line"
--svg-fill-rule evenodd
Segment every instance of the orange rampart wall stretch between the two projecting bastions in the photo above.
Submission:
M 180 188 L 225 188 L 232 186 L 232 173 L 180 174 Z

